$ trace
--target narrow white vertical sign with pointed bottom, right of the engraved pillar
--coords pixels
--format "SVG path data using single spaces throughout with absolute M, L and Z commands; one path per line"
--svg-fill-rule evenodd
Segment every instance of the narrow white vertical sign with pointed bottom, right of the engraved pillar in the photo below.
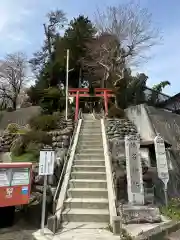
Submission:
M 158 177 L 163 181 L 165 185 L 167 185 L 169 181 L 169 171 L 164 140 L 161 136 L 158 135 L 155 137 L 154 146 L 156 152 Z

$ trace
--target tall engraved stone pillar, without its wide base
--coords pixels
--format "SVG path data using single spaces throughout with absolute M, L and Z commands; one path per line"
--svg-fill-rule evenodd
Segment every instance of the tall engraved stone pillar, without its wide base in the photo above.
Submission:
M 133 205 L 144 204 L 144 187 L 140 159 L 140 139 L 138 136 L 126 136 L 126 172 L 128 200 Z

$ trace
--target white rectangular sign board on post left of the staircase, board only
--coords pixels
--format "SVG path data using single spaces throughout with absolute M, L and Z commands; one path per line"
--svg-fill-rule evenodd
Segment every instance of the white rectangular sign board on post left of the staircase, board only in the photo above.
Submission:
M 39 175 L 53 175 L 55 152 L 51 150 L 40 151 Z

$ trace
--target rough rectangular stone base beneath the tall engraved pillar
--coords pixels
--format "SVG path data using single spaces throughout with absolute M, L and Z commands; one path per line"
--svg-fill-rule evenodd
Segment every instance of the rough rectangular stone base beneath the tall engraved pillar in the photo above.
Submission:
M 160 223 L 159 208 L 149 206 L 123 205 L 123 223 Z

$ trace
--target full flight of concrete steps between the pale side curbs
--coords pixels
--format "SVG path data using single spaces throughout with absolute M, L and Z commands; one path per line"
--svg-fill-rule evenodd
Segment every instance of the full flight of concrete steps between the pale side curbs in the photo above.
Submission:
M 64 201 L 62 223 L 109 223 L 101 122 L 84 115 L 71 177 Z

